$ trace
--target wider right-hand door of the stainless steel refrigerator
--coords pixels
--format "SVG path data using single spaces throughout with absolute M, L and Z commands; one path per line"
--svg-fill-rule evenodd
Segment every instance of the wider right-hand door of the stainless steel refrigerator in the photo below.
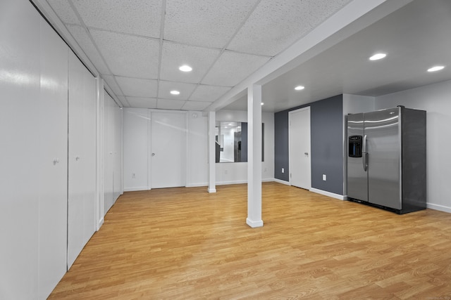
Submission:
M 368 152 L 368 201 L 402 209 L 400 183 L 400 108 L 364 114 Z

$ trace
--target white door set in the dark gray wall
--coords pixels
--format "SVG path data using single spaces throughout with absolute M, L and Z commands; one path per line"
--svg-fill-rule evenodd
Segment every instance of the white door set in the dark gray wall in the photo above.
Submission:
M 290 184 L 311 188 L 310 107 L 289 112 L 290 124 Z

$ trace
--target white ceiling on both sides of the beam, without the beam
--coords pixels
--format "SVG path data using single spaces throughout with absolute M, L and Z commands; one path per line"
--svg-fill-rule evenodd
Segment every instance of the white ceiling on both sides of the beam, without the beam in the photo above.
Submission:
M 47 1 L 56 16 L 51 18 L 63 24 L 122 106 L 208 110 L 356 0 L 37 1 Z M 276 112 L 340 93 L 378 96 L 451 79 L 450 16 L 450 1 L 412 1 L 266 81 L 263 110 Z M 374 51 L 388 56 L 369 63 Z M 448 67 L 426 74 L 433 63 Z M 180 72 L 184 64 L 192 72 Z M 298 84 L 306 89 L 295 92 Z M 172 90 L 180 95 L 171 95 Z M 225 109 L 246 110 L 241 95 Z

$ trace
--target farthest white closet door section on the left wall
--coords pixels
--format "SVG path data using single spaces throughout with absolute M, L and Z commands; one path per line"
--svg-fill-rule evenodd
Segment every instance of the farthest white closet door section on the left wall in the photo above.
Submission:
M 123 193 L 122 110 L 104 93 L 104 214 Z

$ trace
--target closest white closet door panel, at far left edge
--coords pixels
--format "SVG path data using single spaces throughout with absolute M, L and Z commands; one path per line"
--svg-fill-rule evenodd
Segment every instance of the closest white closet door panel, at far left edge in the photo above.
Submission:
M 0 299 L 37 294 L 39 13 L 0 1 Z

